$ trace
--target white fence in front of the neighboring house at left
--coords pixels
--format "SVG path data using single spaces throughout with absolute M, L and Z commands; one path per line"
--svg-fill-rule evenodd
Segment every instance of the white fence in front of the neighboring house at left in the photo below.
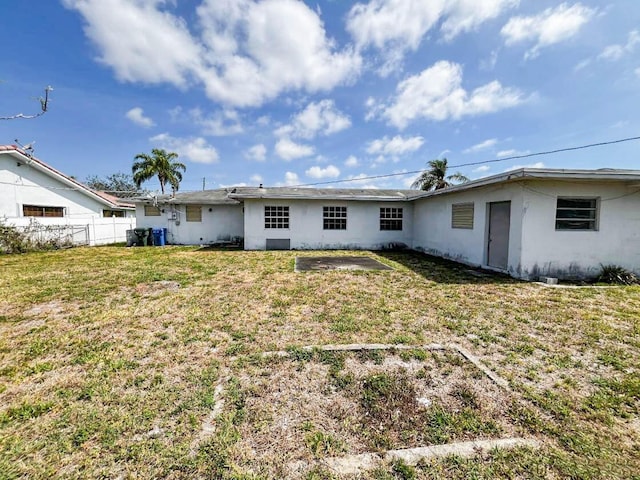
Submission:
M 46 218 L 5 217 L 6 225 L 28 230 L 39 239 L 61 239 L 74 245 L 108 245 L 125 242 L 127 230 L 136 228 L 135 218 Z

